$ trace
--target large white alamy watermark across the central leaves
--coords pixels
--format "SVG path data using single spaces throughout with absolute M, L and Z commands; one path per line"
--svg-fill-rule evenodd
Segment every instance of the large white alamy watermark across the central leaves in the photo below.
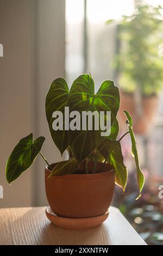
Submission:
M 109 136 L 111 132 L 111 112 L 110 111 L 69 111 L 69 107 L 65 107 L 65 113 L 54 111 L 52 127 L 54 131 L 72 130 L 72 131 L 99 131 L 101 136 Z

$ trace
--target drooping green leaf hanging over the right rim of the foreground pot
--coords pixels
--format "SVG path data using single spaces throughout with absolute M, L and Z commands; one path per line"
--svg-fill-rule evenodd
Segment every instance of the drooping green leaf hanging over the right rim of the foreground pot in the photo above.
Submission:
M 126 188 L 127 184 L 127 168 L 123 163 L 123 155 L 121 150 L 121 144 L 118 141 L 111 141 L 110 139 L 104 139 L 99 145 L 98 150 L 104 156 L 107 162 L 109 162 L 116 172 L 116 184 L 123 188 Z

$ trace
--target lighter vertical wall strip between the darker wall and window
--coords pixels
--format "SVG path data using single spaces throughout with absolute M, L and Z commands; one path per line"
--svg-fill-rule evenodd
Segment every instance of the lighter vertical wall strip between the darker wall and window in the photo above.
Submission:
M 48 3 L 48 4 L 47 4 Z M 61 160 L 52 141 L 45 115 L 45 97 L 55 78 L 64 76 L 65 66 L 65 0 L 37 0 L 36 2 L 36 135 L 45 136 L 43 155 L 48 162 Z M 45 162 L 36 163 L 35 202 L 47 204 L 44 188 Z M 39 182 L 37 182 L 39 180 Z

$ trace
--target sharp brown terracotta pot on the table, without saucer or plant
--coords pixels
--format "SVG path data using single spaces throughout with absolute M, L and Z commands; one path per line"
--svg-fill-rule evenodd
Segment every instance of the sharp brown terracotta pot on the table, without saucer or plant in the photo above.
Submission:
M 57 164 L 57 163 L 55 163 Z M 54 167 L 55 164 L 52 164 Z M 90 163 L 93 166 L 93 163 Z M 97 169 L 102 163 L 97 164 Z M 46 196 L 53 212 L 60 217 L 87 218 L 105 214 L 115 187 L 115 172 L 105 165 L 104 172 L 53 176 L 45 168 Z

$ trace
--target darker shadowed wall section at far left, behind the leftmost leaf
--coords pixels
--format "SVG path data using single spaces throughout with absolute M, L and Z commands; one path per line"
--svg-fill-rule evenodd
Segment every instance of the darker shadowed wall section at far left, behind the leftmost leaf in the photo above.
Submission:
M 13 182 L 5 181 L 5 162 L 20 138 L 27 136 L 33 124 L 33 39 L 34 1 L 0 0 L 0 185 L 4 199 L 0 207 L 33 203 L 33 168 Z

